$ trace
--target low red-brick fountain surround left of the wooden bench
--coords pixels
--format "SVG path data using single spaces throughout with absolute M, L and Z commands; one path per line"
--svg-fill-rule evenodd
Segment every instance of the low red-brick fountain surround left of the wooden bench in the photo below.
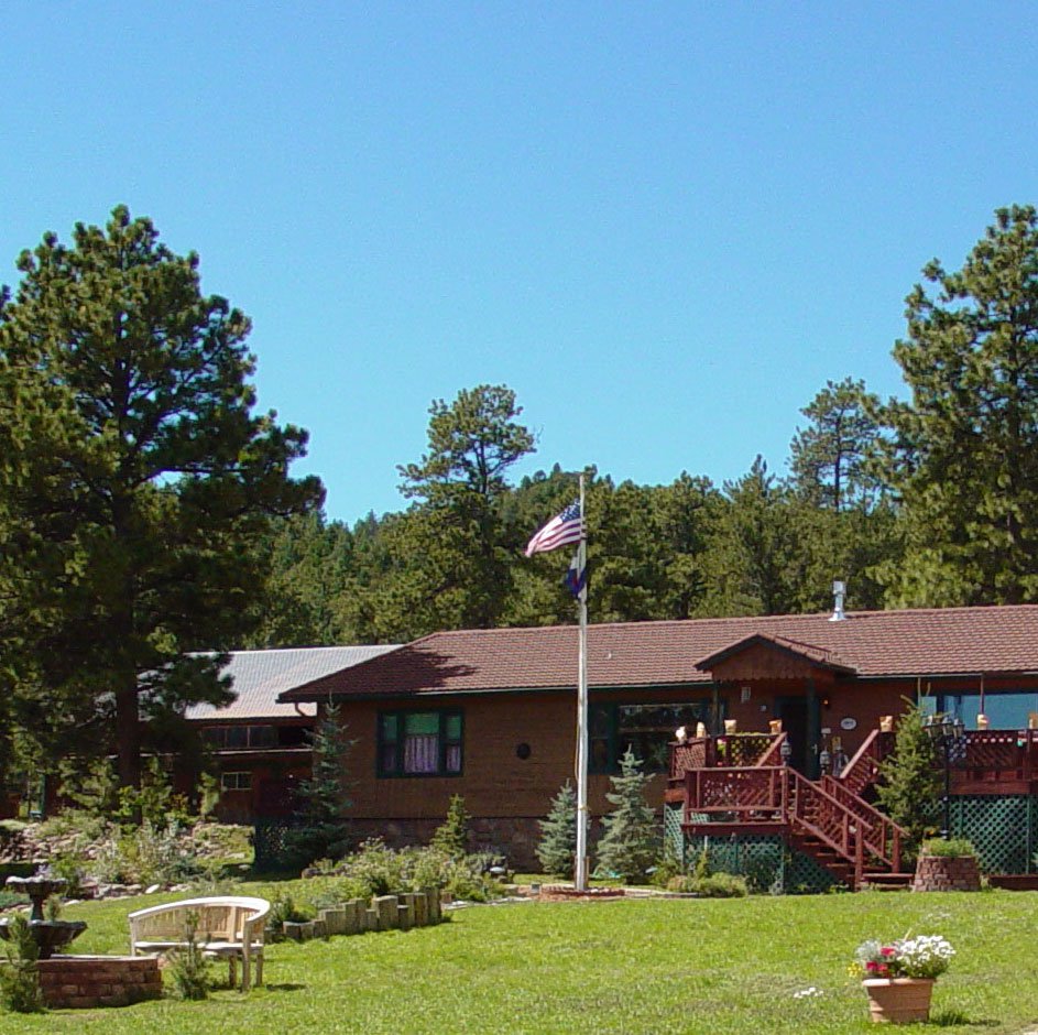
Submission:
M 37 966 L 44 1001 L 54 1010 L 129 1006 L 162 996 L 155 957 L 52 956 Z

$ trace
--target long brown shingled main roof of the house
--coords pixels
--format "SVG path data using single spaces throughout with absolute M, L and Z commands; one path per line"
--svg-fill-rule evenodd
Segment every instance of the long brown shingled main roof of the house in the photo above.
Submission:
M 795 641 L 800 653 L 860 677 L 1038 672 L 1038 604 L 917 611 L 618 622 L 588 630 L 588 680 L 620 687 L 707 683 L 697 662 L 753 635 Z M 282 700 L 414 693 L 571 687 L 577 629 L 439 632 L 296 687 Z

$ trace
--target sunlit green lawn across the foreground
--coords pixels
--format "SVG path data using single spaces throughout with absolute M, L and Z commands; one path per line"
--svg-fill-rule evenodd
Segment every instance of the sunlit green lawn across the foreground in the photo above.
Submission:
M 141 904 L 69 907 L 90 924 L 77 950 L 125 951 Z M 929 1027 L 1038 1031 L 1038 893 L 985 892 L 480 906 L 439 927 L 270 947 L 270 984 L 248 996 L 0 1014 L 0 1032 L 839 1035 L 875 1031 L 846 972 L 855 947 L 909 930 L 958 950 Z M 822 994 L 795 998 L 811 985 Z

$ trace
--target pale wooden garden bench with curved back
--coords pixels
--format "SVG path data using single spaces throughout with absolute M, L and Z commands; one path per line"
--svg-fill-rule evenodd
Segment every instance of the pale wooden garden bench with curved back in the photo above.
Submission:
M 183 949 L 188 927 L 195 922 L 195 943 L 210 957 L 226 959 L 230 983 L 236 985 L 236 966 L 241 960 L 241 990 L 263 981 L 263 937 L 271 904 L 265 898 L 221 895 L 185 898 L 166 905 L 138 909 L 130 920 L 130 955 L 150 955 Z M 251 963 L 255 963 L 255 978 Z

